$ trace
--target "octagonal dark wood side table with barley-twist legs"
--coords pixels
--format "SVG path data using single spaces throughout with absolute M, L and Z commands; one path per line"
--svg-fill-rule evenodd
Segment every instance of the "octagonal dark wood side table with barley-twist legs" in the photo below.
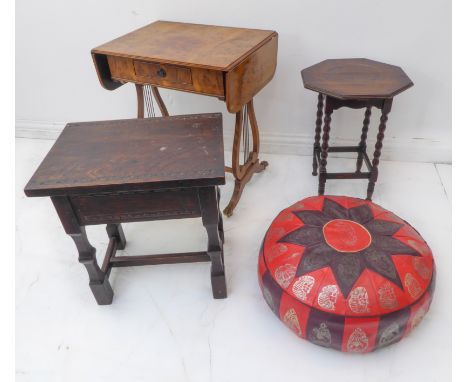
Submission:
M 312 172 L 313 175 L 317 175 L 317 167 L 320 167 L 319 195 L 324 194 L 327 179 L 369 179 L 367 200 L 371 200 L 379 174 L 379 158 L 393 97 L 413 86 L 413 82 L 400 67 L 365 58 L 325 60 L 302 70 L 301 74 L 304 87 L 319 93 Z M 341 107 L 366 109 L 358 146 L 328 146 L 331 115 L 334 110 Z M 366 141 L 372 107 L 380 109 L 382 115 L 371 162 L 367 155 Z M 320 138 L 322 138 L 321 147 Z M 329 152 L 356 152 L 356 172 L 327 172 Z M 363 161 L 368 169 L 367 172 L 361 172 Z

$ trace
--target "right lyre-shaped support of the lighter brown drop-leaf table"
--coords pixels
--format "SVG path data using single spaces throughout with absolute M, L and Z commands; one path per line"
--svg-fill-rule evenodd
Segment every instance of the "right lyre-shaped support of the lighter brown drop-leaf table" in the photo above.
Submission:
M 258 131 L 257 119 L 255 118 L 255 110 L 253 107 L 253 100 L 250 100 L 247 105 L 247 115 L 249 120 L 250 130 L 252 132 L 252 151 L 247 157 L 247 161 L 244 164 L 239 162 L 239 154 L 241 149 L 241 136 L 244 130 L 244 112 L 240 110 L 236 113 L 236 126 L 234 130 L 234 141 L 232 146 L 232 168 L 226 168 L 227 171 L 232 172 L 235 179 L 234 191 L 231 196 L 229 204 L 224 209 L 226 216 L 231 216 L 234 208 L 242 195 L 245 185 L 250 181 L 253 174 L 265 170 L 268 166 L 268 162 L 260 162 L 258 159 L 258 153 L 260 150 L 260 134 Z M 248 134 L 248 129 L 245 129 Z

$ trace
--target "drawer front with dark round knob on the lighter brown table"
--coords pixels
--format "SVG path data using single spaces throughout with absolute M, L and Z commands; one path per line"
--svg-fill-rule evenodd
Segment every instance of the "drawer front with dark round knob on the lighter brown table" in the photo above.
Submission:
M 224 98 L 223 73 L 219 71 L 116 56 L 108 56 L 107 61 L 113 80 Z

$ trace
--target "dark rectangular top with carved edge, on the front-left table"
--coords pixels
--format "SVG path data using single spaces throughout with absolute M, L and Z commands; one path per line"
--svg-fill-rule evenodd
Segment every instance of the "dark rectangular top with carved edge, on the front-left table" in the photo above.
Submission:
M 222 115 L 69 123 L 28 196 L 224 184 Z

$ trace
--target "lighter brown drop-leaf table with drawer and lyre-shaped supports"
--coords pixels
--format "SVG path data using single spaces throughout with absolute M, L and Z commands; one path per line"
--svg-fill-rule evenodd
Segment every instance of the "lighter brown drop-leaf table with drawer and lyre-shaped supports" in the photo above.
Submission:
M 225 168 L 235 178 L 224 209 L 230 216 L 247 182 L 268 165 L 258 159 L 253 98 L 273 78 L 277 50 L 274 31 L 156 21 L 94 48 L 91 54 L 105 89 L 135 84 L 138 118 L 144 118 L 145 109 L 147 116 L 155 115 L 153 97 L 161 114 L 169 115 L 159 87 L 217 97 L 236 114 L 232 167 Z

